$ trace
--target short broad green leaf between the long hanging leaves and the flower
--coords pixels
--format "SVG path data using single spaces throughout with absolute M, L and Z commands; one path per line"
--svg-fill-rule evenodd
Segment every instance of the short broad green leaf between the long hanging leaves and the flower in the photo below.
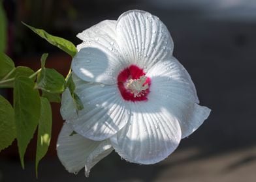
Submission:
M 60 73 L 54 69 L 42 68 L 37 75 L 36 88 L 50 93 L 62 93 L 65 90 L 66 81 Z

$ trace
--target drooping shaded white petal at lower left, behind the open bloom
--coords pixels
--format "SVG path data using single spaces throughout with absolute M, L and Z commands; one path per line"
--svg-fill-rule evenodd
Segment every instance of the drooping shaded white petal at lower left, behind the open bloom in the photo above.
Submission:
M 57 140 L 57 156 L 67 171 L 76 173 L 85 166 L 89 175 L 89 170 L 113 148 L 107 140 L 95 142 L 78 134 L 71 136 L 72 132 L 71 125 L 64 123 Z

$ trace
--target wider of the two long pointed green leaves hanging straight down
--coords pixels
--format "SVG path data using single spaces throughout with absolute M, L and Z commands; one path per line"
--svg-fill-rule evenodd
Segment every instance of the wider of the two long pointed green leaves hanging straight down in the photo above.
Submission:
M 39 91 L 34 89 L 33 81 L 27 77 L 16 77 L 14 80 L 14 118 L 20 161 L 24 168 L 25 150 L 40 118 Z

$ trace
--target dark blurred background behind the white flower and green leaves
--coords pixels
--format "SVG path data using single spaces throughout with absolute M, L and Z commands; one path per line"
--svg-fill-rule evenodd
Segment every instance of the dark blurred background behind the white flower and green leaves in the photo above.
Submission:
M 22 170 L 16 143 L 0 153 L 0 181 L 256 181 L 256 1 L 254 0 L 6 0 L 8 55 L 16 64 L 67 74 L 71 58 L 33 34 L 24 21 L 79 44 L 78 32 L 122 12 L 141 9 L 158 16 L 174 40 L 174 56 L 190 73 L 208 120 L 167 160 L 144 166 L 116 153 L 99 162 L 89 178 L 69 174 L 56 157 L 63 121 L 54 109 L 53 138 L 35 177 L 35 141 Z M 6 93 L 8 95 L 8 93 Z M 10 94 L 9 94 L 10 95 Z M 11 98 L 11 95 L 9 96 Z

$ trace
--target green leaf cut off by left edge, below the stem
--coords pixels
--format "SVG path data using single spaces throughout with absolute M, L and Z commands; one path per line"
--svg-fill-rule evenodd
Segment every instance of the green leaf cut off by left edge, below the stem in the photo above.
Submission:
M 14 110 L 7 99 L 0 95 L 0 151 L 10 146 L 15 138 Z

